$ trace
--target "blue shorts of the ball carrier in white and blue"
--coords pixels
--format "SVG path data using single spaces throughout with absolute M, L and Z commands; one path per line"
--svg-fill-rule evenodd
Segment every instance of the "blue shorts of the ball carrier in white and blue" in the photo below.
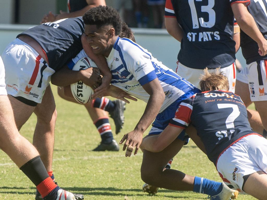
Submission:
M 158 135 L 160 134 L 168 125 L 172 118 L 175 116 L 175 112 L 179 107 L 180 103 L 195 93 L 200 93 L 201 91 L 198 88 L 188 91 L 184 95 L 180 96 L 175 102 L 169 105 L 165 110 L 159 113 L 156 116 L 155 121 L 152 123 L 152 128 L 150 129 L 148 135 Z M 186 143 L 189 141 L 188 135 L 185 136 L 185 131 L 183 130 L 182 133 L 177 137 L 178 139 L 185 141 Z

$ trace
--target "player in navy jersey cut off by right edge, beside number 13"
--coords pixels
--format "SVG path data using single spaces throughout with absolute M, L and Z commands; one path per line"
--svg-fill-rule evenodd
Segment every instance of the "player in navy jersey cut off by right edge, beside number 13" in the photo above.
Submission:
M 267 2 L 251 0 L 248 6 L 262 35 L 267 39 Z M 236 94 L 248 107 L 254 102 L 257 111 L 248 109 L 249 122 L 253 130 L 267 136 L 267 55 L 258 53 L 257 43 L 244 31 L 240 33 L 241 49 L 246 59 L 246 67 L 237 75 Z M 263 125 L 263 126 L 262 126 Z

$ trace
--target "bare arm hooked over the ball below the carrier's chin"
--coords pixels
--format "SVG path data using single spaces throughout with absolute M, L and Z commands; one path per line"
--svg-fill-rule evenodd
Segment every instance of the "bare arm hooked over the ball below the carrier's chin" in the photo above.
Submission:
M 93 53 L 92 47 L 86 41 L 85 34 L 82 35 L 81 41 L 82 41 L 84 52 L 88 55 L 89 58 L 91 58 L 96 63 L 97 67 L 99 68 L 101 72 L 101 75 L 103 76 L 101 79 L 102 81 L 101 86 L 95 89 L 95 93 L 92 95 L 92 98 L 96 98 L 102 95 L 102 93 L 104 93 L 104 91 L 107 90 L 110 84 L 111 78 L 112 78 L 111 71 L 108 68 L 108 64 L 107 64 L 105 57 L 103 55 L 100 55 L 100 54 L 96 55 Z

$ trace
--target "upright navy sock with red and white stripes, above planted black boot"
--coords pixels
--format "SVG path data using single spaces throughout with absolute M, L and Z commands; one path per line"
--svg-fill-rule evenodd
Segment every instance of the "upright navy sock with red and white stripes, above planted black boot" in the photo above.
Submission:
M 100 133 L 100 136 L 102 139 L 101 143 L 104 143 L 104 144 L 111 143 L 113 140 L 113 135 L 112 135 L 112 131 L 111 131 L 108 118 L 99 118 L 95 122 L 95 126 Z

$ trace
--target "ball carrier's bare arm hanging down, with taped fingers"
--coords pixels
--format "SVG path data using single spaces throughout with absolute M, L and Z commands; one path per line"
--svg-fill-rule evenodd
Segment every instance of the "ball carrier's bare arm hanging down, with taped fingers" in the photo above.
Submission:
M 148 128 L 148 126 L 155 119 L 156 115 L 159 113 L 160 107 L 162 106 L 165 98 L 165 94 L 158 78 L 149 83 L 146 83 L 145 85 L 143 85 L 143 88 L 150 95 L 144 114 L 140 118 L 135 129 L 125 134 L 120 141 L 120 144 L 122 144 L 126 140 L 123 146 L 123 151 L 128 145 L 136 147 L 134 155 L 136 155 L 136 153 L 138 152 L 144 131 Z

